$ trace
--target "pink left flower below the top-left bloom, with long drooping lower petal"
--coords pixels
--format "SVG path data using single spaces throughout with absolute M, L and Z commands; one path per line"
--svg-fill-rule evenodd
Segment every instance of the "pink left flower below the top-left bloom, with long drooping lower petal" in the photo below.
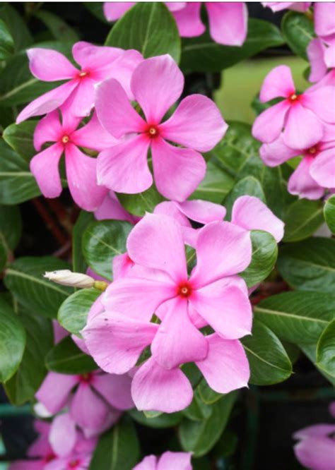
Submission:
M 37 124 L 34 146 L 39 153 L 31 160 L 30 170 L 42 194 L 46 198 L 57 198 L 61 193 L 59 159 L 64 153 L 71 195 L 79 207 L 93 211 L 101 205 L 108 190 L 98 186 L 97 160 L 83 154 L 78 147 L 101 150 L 117 140 L 100 126 L 95 114 L 81 128 L 78 128 L 81 118 L 72 116 L 69 109 L 64 109 L 61 116 L 62 121 L 59 119 L 59 112 L 55 110 Z M 54 144 L 40 151 L 47 142 Z

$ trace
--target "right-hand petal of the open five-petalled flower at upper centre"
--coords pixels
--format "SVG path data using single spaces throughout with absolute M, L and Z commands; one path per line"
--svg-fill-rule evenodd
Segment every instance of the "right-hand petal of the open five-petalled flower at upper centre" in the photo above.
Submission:
M 208 152 L 222 138 L 228 125 L 216 104 L 203 95 L 190 95 L 170 119 L 160 124 L 160 136 L 199 152 Z

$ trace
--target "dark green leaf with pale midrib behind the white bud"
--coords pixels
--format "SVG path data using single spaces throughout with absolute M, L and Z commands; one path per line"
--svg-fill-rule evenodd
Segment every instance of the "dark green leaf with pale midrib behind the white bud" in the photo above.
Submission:
M 62 302 L 72 289 L 43 277 L 45 271 L 69 269 L 69 265 L 52 256 L 18 258 L 6 269 L 4 283 L 28 311 L 56 318 Z

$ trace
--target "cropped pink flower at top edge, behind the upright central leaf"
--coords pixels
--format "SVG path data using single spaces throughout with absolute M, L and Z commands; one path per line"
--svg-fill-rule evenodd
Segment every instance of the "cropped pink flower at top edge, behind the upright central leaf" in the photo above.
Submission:
M 206 27 L 201 21 L 201 2 L 164 2 L 174 16 L 182 37 L 202 35 Z M 136 2 L 105 2 L 104 12 L 107 20 L 115 21 Z M 218 44 L 242 46 L 247 36 L 248 11 L 245 2 L 204 2 L 208 14 L 209 33 Z

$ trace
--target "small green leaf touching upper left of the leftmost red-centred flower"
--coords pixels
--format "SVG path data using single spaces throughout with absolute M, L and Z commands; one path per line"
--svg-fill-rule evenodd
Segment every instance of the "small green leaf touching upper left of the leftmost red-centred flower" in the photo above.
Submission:
M 11 124 L 6 127 L 2 137 L 26 162 L 36 155 L 33 144 L 33 135 L 37 121 L 29 120 L 20 124 Z

